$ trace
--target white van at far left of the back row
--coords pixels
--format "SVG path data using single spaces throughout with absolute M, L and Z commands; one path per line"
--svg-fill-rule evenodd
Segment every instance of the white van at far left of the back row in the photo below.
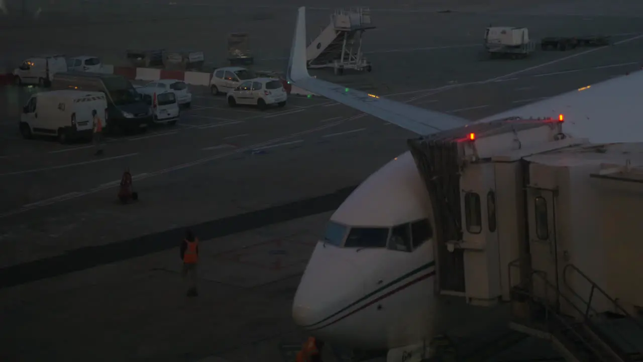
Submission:
M 14 82 L 20 84 L 38 84 L 49 86 L 53 75 L 67 71 L 67 60 L 64 55 L 42 55 L 26 59 L 21 66 L 14 69 Z

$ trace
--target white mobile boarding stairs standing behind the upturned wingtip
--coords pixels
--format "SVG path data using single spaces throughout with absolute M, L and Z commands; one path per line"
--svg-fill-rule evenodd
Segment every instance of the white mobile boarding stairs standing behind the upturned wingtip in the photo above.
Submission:
M 336 10 L 331 23 L 306 49 L 309 68 L 333 68 L 335 74 L 344 69 L 371 70 L 361 50 L 363 33 L 374 29 L 368 8 Z

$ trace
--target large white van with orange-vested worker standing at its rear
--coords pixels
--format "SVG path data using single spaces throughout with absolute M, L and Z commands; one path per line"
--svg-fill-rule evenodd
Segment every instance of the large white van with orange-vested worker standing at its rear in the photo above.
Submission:
M 93 110 L 103 119 L 103 127 L 109 126 L 105 93 L 78 90 L 35 93 L 23 108 L 20 133 L 24 138 L 54 136 L 60 143 L 72 138 L 91 139 Z

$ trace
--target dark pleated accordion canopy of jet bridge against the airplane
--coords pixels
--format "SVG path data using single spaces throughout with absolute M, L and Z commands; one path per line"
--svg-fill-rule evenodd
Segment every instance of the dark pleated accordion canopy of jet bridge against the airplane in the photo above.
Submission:
M 460 216 L 460 162 L 458 145 L 452 140 L 428 140 L 424 137 L 408 140 L 431 200 L 435 225 L 433 238 L 437 249 L 439 289 L 464 292 L 464 250 L 449 252 L 447 242 L 462 240 Z

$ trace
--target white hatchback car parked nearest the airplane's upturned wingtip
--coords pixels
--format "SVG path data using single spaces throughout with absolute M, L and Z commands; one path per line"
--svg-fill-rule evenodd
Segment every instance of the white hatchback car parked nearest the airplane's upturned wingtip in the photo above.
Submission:
M 255 78 L 242 82 L 237 88 L 229 91 L 226 97 L 230 107 L 237 104 L 251 104 L 258 106 L 260 110 L 265 110 L 273 104 L 278 107 L 285 106 L 288 94 L 279 79 Z

